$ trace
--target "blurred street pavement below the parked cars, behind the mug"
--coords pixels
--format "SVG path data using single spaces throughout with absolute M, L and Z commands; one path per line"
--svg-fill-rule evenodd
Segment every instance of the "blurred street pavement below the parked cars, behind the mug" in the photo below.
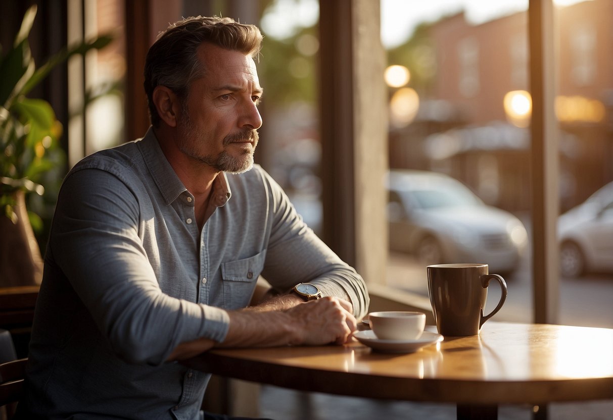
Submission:
M 533 291 L 530 255 L 526 255 L 517 271 L 506 277 L 508 296 L 500 312 L 492 320 L 511 322 L 533 321 Z M 496 274 L 496 273 L 493 273 Z M 387 264 L 387 285 L 428 296 L 425 266 L 402 253 L 390 252 Z M 495 308 L 500 299 L 497 282 L 490 283 L 484 313 Z M 577 279 L 560 279 L 558 324 L 613 328 L 613 275 L 587 275 Z

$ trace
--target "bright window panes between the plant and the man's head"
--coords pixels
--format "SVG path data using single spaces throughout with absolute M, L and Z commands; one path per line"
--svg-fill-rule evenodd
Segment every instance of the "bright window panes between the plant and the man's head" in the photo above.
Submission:
M 81 9 L 83 7 L 83 9 Z M 112 35 L 113 42 L 70 58 L 69 167 L 83 156 L 126 141 L 123 85 L 126 72 L 124 2 L 71 2 L 69 42 Z

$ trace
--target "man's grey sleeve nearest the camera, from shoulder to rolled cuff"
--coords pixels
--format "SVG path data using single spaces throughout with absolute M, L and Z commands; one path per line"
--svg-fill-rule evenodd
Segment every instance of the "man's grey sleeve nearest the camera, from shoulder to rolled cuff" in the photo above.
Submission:
M 126 361 L 161 364 L 181 342 L 223 341 L 225 310 L 162 292 L 139 237 L 141 217 L 139 198 L 115 174 L 71 173 L 49 244 L 56 266 L 113 352 Z

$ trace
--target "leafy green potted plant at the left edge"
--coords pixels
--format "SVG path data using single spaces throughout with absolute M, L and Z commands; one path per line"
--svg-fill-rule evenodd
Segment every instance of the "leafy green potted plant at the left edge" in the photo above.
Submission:
M 0 287 L 36 285 L 42 279 L 26 195 L 42 195 L 45 174 L 63 156 L 58 146 L 62 125 L 53 108 L 27 95 L 70 56 L 103 48 L 112 40 L 101 36 L 70 45 L 37 67 L 28 43 L 36 10 L 35 5 L 26 11 L 13 45 L 0 46 Z

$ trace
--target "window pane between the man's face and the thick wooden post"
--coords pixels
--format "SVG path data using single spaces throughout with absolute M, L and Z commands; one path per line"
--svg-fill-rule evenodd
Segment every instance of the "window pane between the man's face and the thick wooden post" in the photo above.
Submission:
M 273 0 L 265 7 L 257 71 L 265 96 L 256 162 L 283 187 L 299 214 L 321 233 L 319 2 Z

